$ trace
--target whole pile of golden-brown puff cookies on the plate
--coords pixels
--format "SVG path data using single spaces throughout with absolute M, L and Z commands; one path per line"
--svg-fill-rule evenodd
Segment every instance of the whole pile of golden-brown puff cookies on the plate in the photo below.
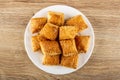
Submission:
M 80 36 L 87 29 L 81 15 L 64 20 L 62 12 L 49 11 L 46 17 L 31 19 L 32 49 L 41 50 L 43 65 L 62 65 L 76 69 L 78 54 L 86 53 L 90 36 Z

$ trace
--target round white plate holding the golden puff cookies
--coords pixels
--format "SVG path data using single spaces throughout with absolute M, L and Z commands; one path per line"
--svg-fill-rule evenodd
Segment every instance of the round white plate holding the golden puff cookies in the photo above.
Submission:
M 68 74 L 71 72 L 74 72 L 78 69 L 80 69 L 90 58 L 93 48 L 94 48 L 94 31 L 92 28 L 92 25 L 90 24 L 89 20 L 87 17 L 85 17 L 84 14 L 82 14 L 80 11 L 78 11 L 75 8 L 65 6 L 65 5 L 54 5 L 54 6 L 49 6 L 46 7 L 40 11 L 38 11 L 33 17 L 41 17 L 41 16 L 47 16 L 48 11 L 58 11 L 58 12 L 63 12 L 65 14 L 65 19 L 70 18 L 75 15 L 82 15 L 83 19 L 88 25 L 88 28 L 81 32 L 81 35 L 90 35 L 90 46 L 86 54 L 79 54 L 79 61 L 78 61 L 78 67 L 77 69 L 71 69 L 71 68 L 66 68 L 63 66 L 45 66 L 42 65 L 42 57 L 43 55 L 40 52 L 33 52 L 31 48 L 31 32 L 30 32 L 30 21 L 28 25 L 26 26 L 25 34 L 24 34 L 24 44 L 25 44 L 25 49 L 27 51 L 27 54 L 30 58 L 30 60 L 41 70 L 52 73 L 52 74 Z M 32 18 L 33 18 L 32 17 Z

